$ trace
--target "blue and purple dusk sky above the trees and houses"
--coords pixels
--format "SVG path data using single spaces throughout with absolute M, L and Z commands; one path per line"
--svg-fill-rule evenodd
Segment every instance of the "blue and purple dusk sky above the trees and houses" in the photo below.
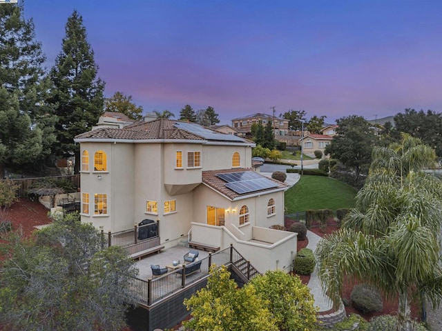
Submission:
M 2 6 L 2 5 L 0 5 Z M 305 110 L 327 123 L 442 111 L 442 1 L 27 0 L 48 69 L 76 9 L 105 96 L 222 123 Z

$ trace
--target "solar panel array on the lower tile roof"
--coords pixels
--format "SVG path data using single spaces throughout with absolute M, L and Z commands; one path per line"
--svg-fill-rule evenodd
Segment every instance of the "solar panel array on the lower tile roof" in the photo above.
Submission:
M 217 174 L 217 177 L 223 181 L 227 181 L 224 185 L 238 194 L 278 187 L 278 183 L 252 171 L 227 172 L 224 174 Z

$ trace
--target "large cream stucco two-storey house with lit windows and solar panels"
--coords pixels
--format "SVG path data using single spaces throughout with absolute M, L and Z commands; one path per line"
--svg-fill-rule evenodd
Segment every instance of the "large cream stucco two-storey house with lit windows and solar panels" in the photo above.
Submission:
M 251 168 L 252 141 L 170 119 L 79 134 L 81 221 L 104 231 L 159 221 L 161 243 L 231 243 L 260 272 L 291 268 L 287 185 Z

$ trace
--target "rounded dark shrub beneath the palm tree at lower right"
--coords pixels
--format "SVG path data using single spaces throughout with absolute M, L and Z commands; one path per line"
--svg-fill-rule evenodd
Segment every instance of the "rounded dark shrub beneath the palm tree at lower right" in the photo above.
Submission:
M 359 312 L 381 312 L 383 309 L 381 295 L 372 286 L 367 284 L 356 285 L 350 294 L 352 305 Z

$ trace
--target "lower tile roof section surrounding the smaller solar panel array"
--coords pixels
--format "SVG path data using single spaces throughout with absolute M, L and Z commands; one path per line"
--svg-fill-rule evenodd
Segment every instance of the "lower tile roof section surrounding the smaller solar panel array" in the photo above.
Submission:
M 253 192 L 249 192 L 249 193 L 244 193 L 244 194 L 238 194 L 235 191 L 231 190 L 230 188 L 227 188 L 226 185 L 224 185 L 226 182 L 223 181 L 222 179 L 220 179 L 220 177 L 217 177 L 217 174 L 225 174 L 227 172 L 242 172 L 242 171 L 251 171 L 253 172 L 253 170 L 249 169 L 249 168 L 235 168 L 235 169 L 227 169 L 227 170 L 207 170 L 207 171 L 203 171 L 202 172 L 202 182 L 206 185 L 208 185 L 209 187 L 213 188 L 214 190 L 220 192 L 221 194 L 223 194 L 224 196 L 228 197 L 229 199 L 233 200 L 235 198 L 238 197 L 247 197 L 249 195 L 253 195 L 259 192 L 271 192 L 273 190 L 280 190 L 280 189 L 285 189 L 288 188 L 289 186 L 286 185 L 285 183 L 281 183 L 280 181 L 276 181 L 275 179 L 271 179 L 268 177 L 264 177 L 263 178 L 267 178 L 270 181 L 274 181 L 275 183 L 278 184 L 278 186 L 276 188 L 267 188 L 265 190 L 258 190 L 258 191 L 253 191 Z M 256 172 L 258 173 L 258 172 Z

